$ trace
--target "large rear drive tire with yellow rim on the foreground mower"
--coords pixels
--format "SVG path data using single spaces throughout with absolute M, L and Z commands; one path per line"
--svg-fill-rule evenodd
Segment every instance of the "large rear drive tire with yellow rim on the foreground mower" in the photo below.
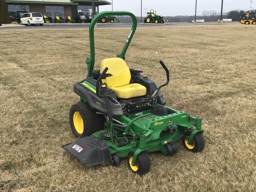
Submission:
M 96 114 L 88 103 L 79 102 L 70 108 L 69 123 L 73 134 L 81 138 L 104 129 L 104 116 Z

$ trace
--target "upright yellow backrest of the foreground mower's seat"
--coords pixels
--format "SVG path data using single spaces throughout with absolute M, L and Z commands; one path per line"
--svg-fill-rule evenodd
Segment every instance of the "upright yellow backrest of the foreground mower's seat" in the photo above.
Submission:
M 108 87 L 120 87 L 130 83 L 131 72 L 122 58 L 114 57 L 102 60 L 100 73 L 106 67 L 108 68 L 107 73 L 111 73 L 112 76 L 102 79 L 102 83 L 106 83 Z

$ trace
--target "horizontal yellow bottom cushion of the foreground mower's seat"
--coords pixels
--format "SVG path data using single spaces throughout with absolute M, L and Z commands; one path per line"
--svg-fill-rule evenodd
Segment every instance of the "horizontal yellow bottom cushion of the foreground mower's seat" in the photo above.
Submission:
M 117 98 L 128 99 L 136 96 L 144 96 L 147 93 L 146 87 L 141 84 L 128 84 L 121 87 L 109 87 L 116 94 Z

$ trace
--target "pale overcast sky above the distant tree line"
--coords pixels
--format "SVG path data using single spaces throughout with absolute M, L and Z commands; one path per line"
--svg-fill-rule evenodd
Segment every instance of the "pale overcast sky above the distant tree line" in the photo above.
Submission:
M 112 3 L 113 11 L 129 11 L 135 16 L 142 16 L 150 9 L 154 9 L 156 14 L 162 16 L 177 16 L 177 15 L 202 15 L 206 11 L 221 11 L 221 0 L 107 0 Z M 252 0 L 252 9 L 256 9 L 256 0 Z M 112 11 L 112 5 L 104 5 L 99 7 L 99 11 Z M 223 0 L 223 12 L 232 10 L 249 10 L 251 0 Z

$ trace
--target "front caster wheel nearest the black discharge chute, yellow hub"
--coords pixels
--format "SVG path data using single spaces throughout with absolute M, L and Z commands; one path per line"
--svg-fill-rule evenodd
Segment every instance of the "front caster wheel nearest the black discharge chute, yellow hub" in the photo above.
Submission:
M 133 172 L 139 175 L 144 175 L 150 170 L 150 160 L 148 153 L 143 151 L 140 152 L 137 156 L 135 164 L 132 165 L 133 155 L 136 152 L 137 148 L 132 149 L 127 156 L 128 167 L 132 169 Z

